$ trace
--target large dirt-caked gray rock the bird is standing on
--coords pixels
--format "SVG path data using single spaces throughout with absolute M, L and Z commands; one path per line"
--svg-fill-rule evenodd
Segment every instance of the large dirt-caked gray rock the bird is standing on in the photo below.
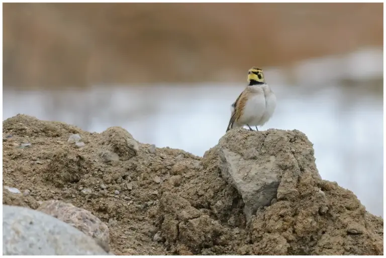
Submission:
M 299 143 L 293 144 L 295 139 Z M 273 199 L 297 196 L 296 185 L 302 171 L 317 171 L 316 167 L 306 167 L 315 164 L 306 162 L 314 161 L 314 150 L 307 137 L 297 130 L 231 130 L 217 148 L 221 174 L 242 196 L 247 221 Z M 317 172 L 313 176 L 320 178 Z

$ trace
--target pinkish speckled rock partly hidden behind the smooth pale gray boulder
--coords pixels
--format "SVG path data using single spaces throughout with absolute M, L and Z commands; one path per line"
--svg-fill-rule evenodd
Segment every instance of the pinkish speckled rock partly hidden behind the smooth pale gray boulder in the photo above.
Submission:
M 86 235 L 94 238 L 105 251 L 110 251 L 109 228 L 90 211 L 57 200 L 43 201 L 37 210 L 76 227 Z

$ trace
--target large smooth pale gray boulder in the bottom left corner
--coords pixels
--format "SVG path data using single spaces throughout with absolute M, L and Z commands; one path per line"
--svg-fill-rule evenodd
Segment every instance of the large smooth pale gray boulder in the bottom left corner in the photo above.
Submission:
M 108 255 L 73 226 L 33 209 L 3 205 L 3 255 Z

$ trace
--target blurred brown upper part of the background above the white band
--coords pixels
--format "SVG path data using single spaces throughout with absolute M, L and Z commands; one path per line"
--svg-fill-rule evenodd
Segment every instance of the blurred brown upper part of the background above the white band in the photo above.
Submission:
M 3 4 L 10 87 L 245 80 L 383 44 L 382 4 Z

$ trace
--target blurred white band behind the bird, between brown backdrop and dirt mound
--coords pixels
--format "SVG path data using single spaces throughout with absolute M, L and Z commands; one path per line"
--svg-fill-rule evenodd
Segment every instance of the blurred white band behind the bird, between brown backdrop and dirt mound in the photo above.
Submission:
M 301 66 L 328 70 L 323 62 Z M 347 65 L 351 66 L 351 62 Z M 347 66 L 342 68 L 350 71 Z M 332 77 L 314 73 L 308 80 L 296 80 L 294 84 L 283 79 L 279 70 L 268 70 L 266 78 L 278 104 L 272 119 L 259 130 L 304 132 L 314 143 L 322 178 L 352 190 L 368 211 L 383 215 L 383 96 L 381 90 L 373 90 L 381 89 L 382 81 L 372 80 L 376 77 L 373 74 L 366 77 L 374 69 L 359 78 L 355 73 L 340 78 L 336 69 L 330 67 L 335 72 Z M 314 70 L 306 71 L 313 74 Z M 23 113 L 95 132 L 121 126 L 140 142 L 202 156 L 225 134 L 230 104 L 244 87 L 241 82 L 239 85 L 101 86 L 86 91 L 5 89 L 3 119 Z

